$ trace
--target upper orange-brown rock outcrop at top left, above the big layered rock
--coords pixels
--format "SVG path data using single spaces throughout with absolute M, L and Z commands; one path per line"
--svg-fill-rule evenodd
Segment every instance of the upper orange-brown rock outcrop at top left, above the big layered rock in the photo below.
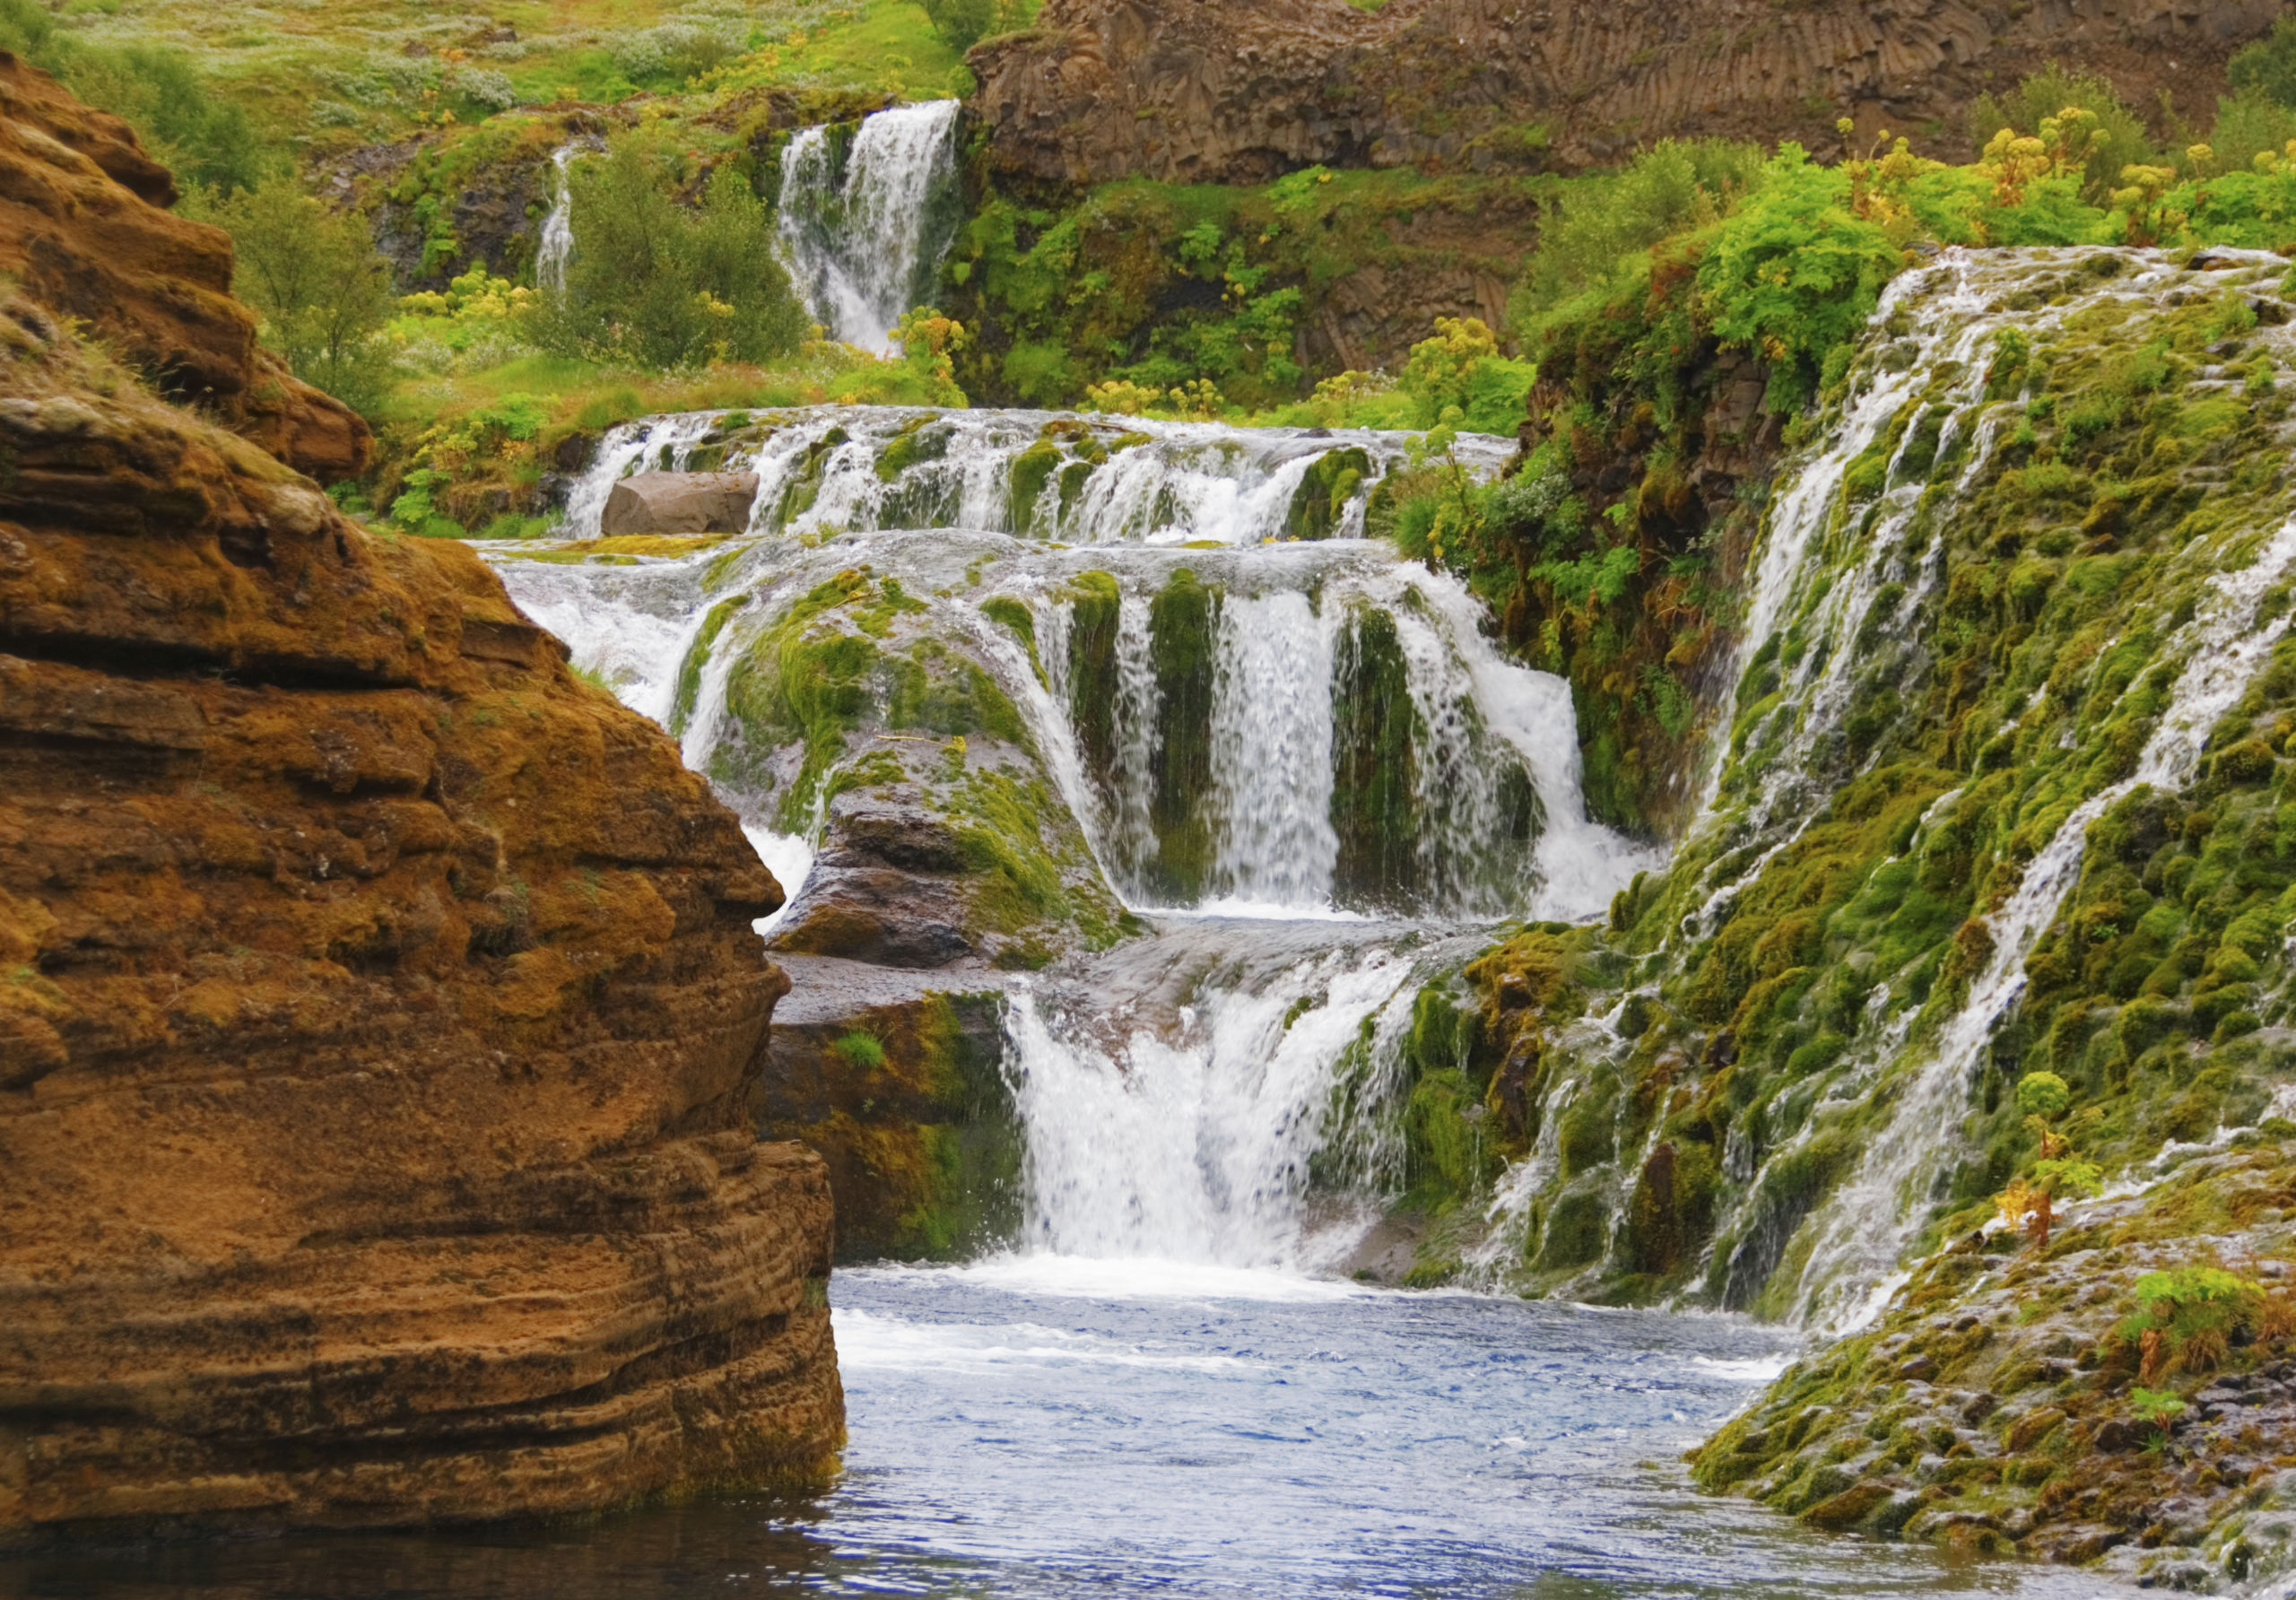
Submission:
M 129 124 L 0 51 L 0 275 L 296 471 L 363 473 L 367 425 L 257 349 L 230 234 L 172 216 L 174 200 Z

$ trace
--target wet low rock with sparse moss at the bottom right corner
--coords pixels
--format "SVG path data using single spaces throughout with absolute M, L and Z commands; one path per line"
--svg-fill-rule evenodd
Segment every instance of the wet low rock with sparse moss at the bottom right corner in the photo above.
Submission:
M 2080 1207 L 2046 1249 L 1995 1233 L 1933 1256 L 1692 1471 L 1818 1527 L 2103 1561 L 2147 1589 L 2296 1570 L 2296 1343 L 2273 1311 L 2296 1168 L 2241 1143 Z M 2255 1274 L 2255 1311 L 2225 1318 L 2223 1347 L 2183 1345 L 2170 1320 L 2147 1345 L 2138 1283 L 2218 1260 Z

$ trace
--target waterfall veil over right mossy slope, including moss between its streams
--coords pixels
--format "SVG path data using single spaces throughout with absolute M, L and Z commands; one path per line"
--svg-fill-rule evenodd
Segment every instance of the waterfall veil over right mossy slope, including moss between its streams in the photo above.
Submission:
M 1646 1272 L 1674 1249 L 1637 1235 L 1653 1173 L 1671 1187 L 1694 1150 L 1711 1224 L 1694 1253 L 1660 1258 L 1681 1295 L 1855 1329 L 1938 1207 L 1998 1180 L 1972 1166 L 1970 1118 L 1998 1139 L 2011 1063 L 1988 1058 L 2018 1028 L 2027 962 L 2071 937 L 2092 824 L 2144 785 L 2193 806 L 2209 737 L 2289 627 L 2296 494 L 2188 443 L 2225 438 L 2296 372 L 2287 264 L 2213 266 L 1949 250 L 1890 287 L 1768 500 L 1706 794 L 1674 870 L 1637 898 L 1665 907 L 1655 946 L 1630 950 L 1632 987 L 1600 1015 L 1543 1040 L 1531 1150 L 1474 1251 L 1492 1279 L 1587 1292 Z M 2241 337 L 2195 337 L 2209 317 Z M 2076 422 L 2117 418 L 2144 418 L 2144 443 L 2078 452 Z M 2183 496 L 2179 516 L 2211 510 L 2124 528 L 2115 496 L 2133 477 Z M 2007 643 L 1972 654 L 1956 627 Z M 1938 723 L 1915 721 L 1940 686 L 1956 714 L 1942 748 Z M 1906 794 L 1919 808 L 1887 831 L 1860 822 Z M 1541 845 L 1557 836 L 1550 822 Z M 1646 1033 L 1685 1010 L 1694 1031 Z M 1720 1106 L 1727 1084 L 1722 1127 L 1612 1093 L 1667 1079 L 1681 1104 Z M 1575 1233 L 1550 1251 L 1557 1217 Z

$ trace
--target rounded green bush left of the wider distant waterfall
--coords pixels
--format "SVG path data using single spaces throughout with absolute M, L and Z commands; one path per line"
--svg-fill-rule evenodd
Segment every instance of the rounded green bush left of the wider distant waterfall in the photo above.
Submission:
M 535 344 L 654 370 L 797 349 L 810 319 L 758 195 L 721 165 L 687 207 L 684 179 L 684 156 L 638 131 L 567 172 L 574 255 L 528 324 Z

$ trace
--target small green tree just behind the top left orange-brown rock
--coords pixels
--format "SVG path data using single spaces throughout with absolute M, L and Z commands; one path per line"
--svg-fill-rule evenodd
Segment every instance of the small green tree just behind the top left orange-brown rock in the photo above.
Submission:
M 264 319 L 264 342 L 294 374 L 356 411 L 374 411 L 388 381 L 377 335 L 393 298 L 390 266 L 374 250 L 367 218 L 328 209 L 289 177 L 186 209 L 232 234 L 232 289 Z

